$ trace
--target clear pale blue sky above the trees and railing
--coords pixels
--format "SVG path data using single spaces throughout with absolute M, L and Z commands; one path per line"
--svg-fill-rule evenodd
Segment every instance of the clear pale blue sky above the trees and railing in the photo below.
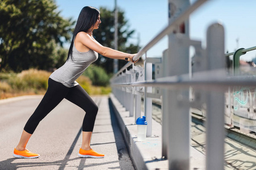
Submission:
M 191 0 L 191 3 L 195 0 Z M 84 6 L 101 6 L 114 9 L 114 0 L 56 0 L 64 18 L 77 19 Z M 117 0 L 118 7 L 125 11 L 130 29 L 135 29 L 134 43 L 142 47 L 152 40 L 168 24 L 168 0 Z M 190 17 L 190 37 L 201 40 L 205 45 L 207 28 L 220 22 L 225 28 L 225 49 L 234 52 L 237 48 L 256 46 L 255 13 L 256 1 L 252 0 L 210 0 L 198 8 Z M 159 57 L 168 46 L 165 37 L 147 52 L 148 57 Z M 251 61 L 256 51 L 247 52 L 241 57 Z

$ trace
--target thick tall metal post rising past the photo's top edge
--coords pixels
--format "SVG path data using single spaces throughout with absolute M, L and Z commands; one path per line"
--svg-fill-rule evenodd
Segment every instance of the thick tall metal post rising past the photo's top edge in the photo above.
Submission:
M 169 24 L 176 16 L 190 6 L 189 0 L 169 0 Z M 176 36 L 189 37 L 189 22 L 177 25 L 175 31 L 169 35 L 168 45 L 168 75 L 189 73 L 189 48 L 182 46 Z M 189 91 L 168 91 L 168 152 L 169 169 L 189 169 L 190 159 L 190 125 Z M 166 100 L 166 99 L 165 99 Z

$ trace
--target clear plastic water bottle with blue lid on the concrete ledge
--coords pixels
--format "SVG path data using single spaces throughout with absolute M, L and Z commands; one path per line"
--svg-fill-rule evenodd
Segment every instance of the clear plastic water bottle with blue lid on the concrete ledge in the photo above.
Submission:
M 146 140 L 146 133 L 147 133 L 147 121 L 146 117 L 142 116 L 137 118 L 137 141 L 145 141 Z

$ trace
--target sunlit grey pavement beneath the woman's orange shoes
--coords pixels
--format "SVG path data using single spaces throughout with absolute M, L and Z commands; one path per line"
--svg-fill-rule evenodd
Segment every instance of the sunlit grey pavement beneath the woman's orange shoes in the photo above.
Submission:
M 82 142 L 84 111 L 67 100 L 40 122 L 27 148 L 37 159 L 16 159 L 13 149 L 42 96 L 0 100 L 0 169 L 134 169 L 117 121 L 109 111 L 108 96 L 94 96 L 99 111 L 92 136 L 92 148 L 105 158 L 77 156 Z

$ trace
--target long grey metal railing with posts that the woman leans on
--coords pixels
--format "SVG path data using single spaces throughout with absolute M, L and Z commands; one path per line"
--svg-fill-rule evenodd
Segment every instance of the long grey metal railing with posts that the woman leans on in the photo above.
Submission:
M 228 91 L 229 86 L 255 86 L 256 83 L 253 78 L 227 78 L 225 36 L 221 24 L 214 23 L 208 27 L 205 49 L 201 41 L 189 39 L 189 15 L 206 1 L 198 0 L 189 5 L 188 0 L 169 0 L 169 6 L 174 6 L 170 10 L 176 9 L 170 11 L 170 24 L 134 57 L 137 60 L 146 55 L 144 68 L 133 65 L 132 69 L 127 70 L 131 66 L 129 62 L 110 80 L 113 94 L 130 112 L 130 116 L 134 116 L 134 121 L 142 116 L 141 99 L 144 96 L 147 137 L 152 135 L 152 98 L 162 99 L 162 156 L 168 159 L 169 169 L 189 169 L 189 108 L 200 108 L 202 105 L 206 105 L 207 112 L 206 167 L 224 169 L 224 92 Z M 180 29 L 184 25 L 185 31 Z M 164 50 L 163 57 L 148 57 L 147 50 L 166 35 L 169 48 Z M 193 67 L 189 46 L 195 48 Z

